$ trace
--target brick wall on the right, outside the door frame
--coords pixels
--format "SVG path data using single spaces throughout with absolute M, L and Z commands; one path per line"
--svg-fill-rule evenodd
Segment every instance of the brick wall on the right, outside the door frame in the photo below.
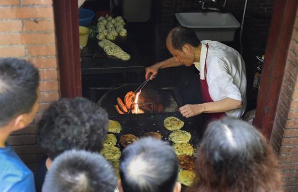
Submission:
M 278 153 L 284 191 L 298 191 L 298 15 L 287 55 L 270 142 Z

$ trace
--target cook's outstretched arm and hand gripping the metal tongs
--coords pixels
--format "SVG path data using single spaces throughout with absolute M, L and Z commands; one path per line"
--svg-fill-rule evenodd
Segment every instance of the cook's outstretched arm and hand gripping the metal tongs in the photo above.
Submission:
M 168 67 L 177 67 L 183 65 L 181 62 L 176 61 L 174 57 L 163 60 L 161 62 L 157 62 L 154 65 L 146 67 L 145 79 L 152 78 L 157 75 L 159 69 L 168 68 Z M 148 75 L 151 74 L 149 77 Z

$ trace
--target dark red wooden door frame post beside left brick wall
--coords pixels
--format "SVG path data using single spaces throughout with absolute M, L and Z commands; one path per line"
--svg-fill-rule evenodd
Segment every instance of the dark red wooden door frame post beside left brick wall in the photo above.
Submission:
M 82 96 L 78 0 L 53 0 L 61 97 Z

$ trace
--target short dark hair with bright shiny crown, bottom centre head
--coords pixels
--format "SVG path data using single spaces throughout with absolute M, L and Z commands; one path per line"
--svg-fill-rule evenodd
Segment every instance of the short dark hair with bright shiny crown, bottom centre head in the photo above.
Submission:
M 119 171 L 123 191 L 173 191 L 178 166 L 177 156 L 168 142 L 141 138 L 122 151 Z

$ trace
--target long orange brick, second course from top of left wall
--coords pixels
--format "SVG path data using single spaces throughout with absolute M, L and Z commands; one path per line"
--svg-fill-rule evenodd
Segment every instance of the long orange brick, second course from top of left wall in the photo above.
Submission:
M 53 18 L 52 7 L 0 8 L 0 19 Z

